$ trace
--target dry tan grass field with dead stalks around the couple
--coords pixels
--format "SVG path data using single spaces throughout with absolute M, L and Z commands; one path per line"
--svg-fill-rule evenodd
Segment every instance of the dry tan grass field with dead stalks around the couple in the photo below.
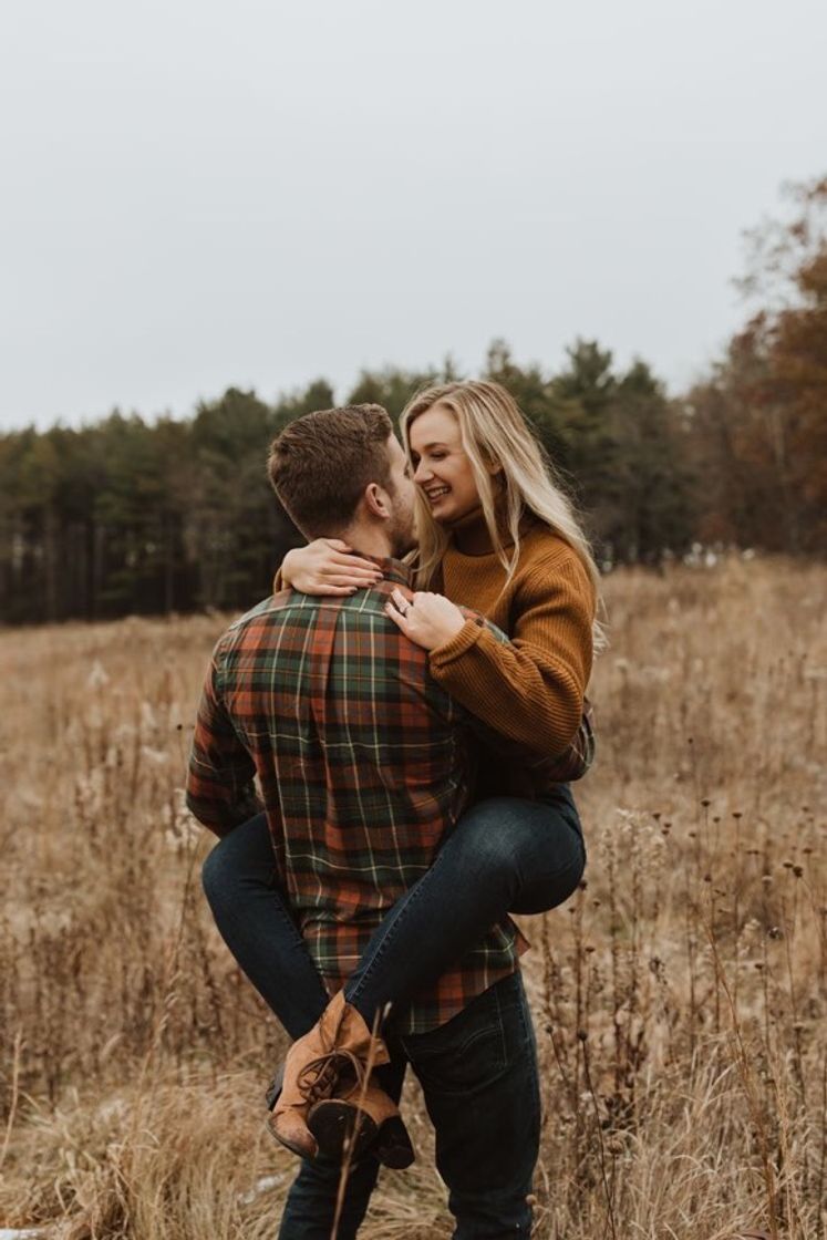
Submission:
M 536 1235 L 823 1240 L 827 569 L 606 582 L 590 861 L 524 920 L 543 1063 Z M 212 928 L 182 806 L 226 618 L 0 632 L 0 1226 L 273 1236 L 283 1044 Z M 366 1238 L 450 1235 L 422 1148 Z

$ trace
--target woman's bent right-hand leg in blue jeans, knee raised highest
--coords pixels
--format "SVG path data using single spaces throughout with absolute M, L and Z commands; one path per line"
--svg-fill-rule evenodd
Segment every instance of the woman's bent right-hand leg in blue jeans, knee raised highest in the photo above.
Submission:
M 374 930 L 345 997 L 371 1024 L 387 1003 L 404 1003 L 439 977 L 507 913 L 562 904 L 584 867 L 568 785 L 542 801 L 480 801 Z

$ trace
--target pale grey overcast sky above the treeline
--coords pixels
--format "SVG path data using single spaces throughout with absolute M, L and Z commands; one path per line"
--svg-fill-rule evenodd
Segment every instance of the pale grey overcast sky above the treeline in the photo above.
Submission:
M 0 428 L 575 336 L 678 391 L 827 171 L 823 0 L 19 0 Z

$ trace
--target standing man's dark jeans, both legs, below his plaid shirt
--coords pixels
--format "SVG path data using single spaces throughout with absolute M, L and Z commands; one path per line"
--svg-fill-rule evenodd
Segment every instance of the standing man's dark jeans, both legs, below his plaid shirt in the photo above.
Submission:
M 539 1083 L 531 1013 L 520 973 L 485 991 L 430 1033 L 389 1035 L 382 1084 L 399 1097 L 405 1064 L 419 1078 L 436 1133 L 436 1167 L 449 1189 L 455 1240 L 531 1233 L 539 1149 Z M 350 1177 L 338 1229 L 352 1240 L 378 1174 L 369 1156 Z M 330 1240 L 340 1167 L 304 1162 L 288 1195 L 279 1240 Z

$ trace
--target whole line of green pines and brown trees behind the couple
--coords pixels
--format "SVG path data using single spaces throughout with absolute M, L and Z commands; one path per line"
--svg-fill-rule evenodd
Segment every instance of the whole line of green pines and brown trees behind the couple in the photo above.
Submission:
M 446 361 L 365 371 L 342 404 L 397 419 L 423 384 L 484 377 L 516 398 L 583 515 L 600 563 L 657 565 L 697 542 L 823 558 L 827 548 L 827 179 L 796 218 L 753 234 L 743 283 L 761 309 L 708 377 L 670 397 L 643 361 L 578 339 L 562 368 L 490 346 L 480 374 Z M 294 418 L 335 403 L 319 378 L 262 401 L 228 388 L 188 418 L 118 410 L 81 428 L 0 435 L 0 621 L 245 609 L 304 539 L 265 461 Z

